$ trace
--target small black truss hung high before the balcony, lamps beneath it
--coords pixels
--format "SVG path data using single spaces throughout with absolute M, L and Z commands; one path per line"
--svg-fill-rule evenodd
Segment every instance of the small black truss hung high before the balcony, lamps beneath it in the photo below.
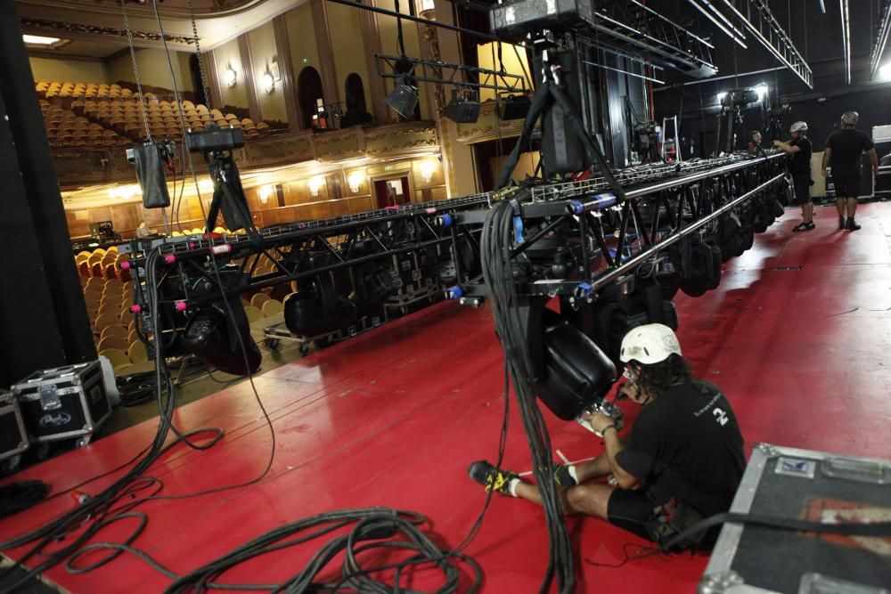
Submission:
M 509 74 L 502 70 L 490 70 L 462 64 L 449 64 L 444 61 L 394 56 L 375 53 L 378 75 L 384 78 L 405 77 L 405 71 L 412 71 L 412 78 L 419 83 L 440 83 L 460 85 L 476 89 L 494 89 L 503 93 L 527 93 L 526 77 Z

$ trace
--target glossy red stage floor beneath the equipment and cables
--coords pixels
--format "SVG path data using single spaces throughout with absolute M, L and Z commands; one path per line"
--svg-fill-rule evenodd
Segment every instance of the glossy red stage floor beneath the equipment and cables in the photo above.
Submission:
M 769 442 L 887 457 L 891 205 L 861 207 L 863 229 L 854 233 L 836 229 L 834 208 L 818 208 L 817 215 L 815 231 L 796 234 L 789 231 L 797 217 L 787 215 L 725 265 L 720 289 L 678 297 L 681 342 L 696 373 L 730 398 L 747 450 Z M 261 374 L 256 384 L 278 438 L 271 475 L 249 488 L 143 504 L 151 519 L 135 546 L 185 573 L 276 525 L 330 509 L 413 509 L 452 545 L 470 529 L 484 494 L 466 468 L 495 458 L 503 414 L 502 351 L 486 309 L 437 305 Z M 548 419 L 554 447 L 569 459 L 601 452 L 584 428 Z M 165 494 L 240 483 L 265 467 L 270 435 L 249 385 L 186 405 L 176 421 L 184 429 L 223 427 L 226 436 L 208 452 L 178 450 L 154 468 Z M 134 456 L 156 422 L 13 478 L 65 489 Z M 516 409 L 505 465 L 529 467 Z M 0 524 L 0 540 L 70 505 L 65 496 L 12 517 Z M 691 592 L 706 566 L 706 557 L 593 566 L 587 561 L 621 561 L 625 543 L 642 541 L 595 519 L 570 518 L 568 525 L 578 591 Z M 118 536 L 112 529 L 99 540 Z M 486 591 L 528 592 L 537 590 L 546 551 L 542 511 L 498 497 L 466 552 L 483 567 Z M 6 552 L 20 557 L 21 549 Z M 306 555 L 276 554 L 225 577 L 277 582 L 295 574 Z M 169 583 L 134 557 L 83 575 L 58 566 L 45 577 L 75 592 L 159 591 Z

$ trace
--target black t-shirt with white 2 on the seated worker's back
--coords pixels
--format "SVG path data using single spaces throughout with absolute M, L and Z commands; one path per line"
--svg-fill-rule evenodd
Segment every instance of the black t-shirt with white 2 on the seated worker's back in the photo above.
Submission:
M 742 443 L 730 403 L 694 379 L 641 409 L 616 461 L 655 505 L 674 497 L 708 517 L 730 509 L 746 467 Z

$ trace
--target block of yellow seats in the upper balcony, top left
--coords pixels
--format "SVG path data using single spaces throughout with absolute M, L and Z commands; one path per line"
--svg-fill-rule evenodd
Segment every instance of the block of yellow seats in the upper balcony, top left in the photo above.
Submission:
M 47 130 L 53 129 L 53 134 L 50 134 L 53 146 L 128 144 L 129 141 L 143 139 L 146 126 L 153 137 L 174 140 L 182 138 L 183 124 L 196 132 L 206 129 L 210 123 L 241 128 L 245 138 L 257 138 L 272 132 L 266 122 L 254 122 L 250 118 L 238 118 L 233 113 L 210 110 L 200 103 L 168 102 L 151 93 L 140 96 L 120 87 L 117 94 L 98 94 L 95 88 L 93 94 L 86 94 L 90 87 L 84 83 L 36 83 Z M 66 127 L 61 128 L 60 124 Z M 71 134 L 82 128 L 101 131 L 102 134 Z

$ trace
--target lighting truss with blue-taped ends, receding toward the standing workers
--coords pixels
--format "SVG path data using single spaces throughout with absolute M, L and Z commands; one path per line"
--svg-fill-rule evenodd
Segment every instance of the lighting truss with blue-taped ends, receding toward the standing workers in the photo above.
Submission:
M 591 303 L 599 290 L 622 284 L 674 243 L 717 232 L 719 217 L 733 212 L 743 223 L 751 221 L 784 187 L 786 173 L 785 159 L 773 154 L 632 167 L 615 175 L 625 190 L 622 202 L 602 177 L 494 194 L 517 200 L 515 209 L 526 230 L 522 241 L 511 238 L 519 295 L 560 295 Z M 486 213 L 457 213 L 448 223 L 475 228 Z M 552 271 L 560 267 L 554 268 L 549 258 L 558 251 L 568 273 L 554 278 Z M 479 305 L 489 291 L 475 282 L 453 294 L 462 303 Z

